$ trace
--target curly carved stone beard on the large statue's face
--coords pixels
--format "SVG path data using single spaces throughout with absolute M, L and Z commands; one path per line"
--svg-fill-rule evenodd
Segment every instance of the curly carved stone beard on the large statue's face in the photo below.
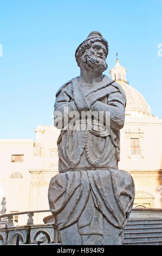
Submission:
M 85 54 L 81 57 L 81 65 L 84 69 L 95 70 L 103 72 L 107 69 L 107 63 L 102 58 L 96 58 L 94 56 Z

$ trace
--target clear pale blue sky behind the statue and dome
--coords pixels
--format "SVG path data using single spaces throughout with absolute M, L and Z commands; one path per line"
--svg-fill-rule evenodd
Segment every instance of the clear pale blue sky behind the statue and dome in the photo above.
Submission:
M 2 0 L 0 12 L 0 139 L 35 138 L 37 125 L 53 123 L 55 93 L 79 75 L 75 50 L 91 31 L 109 44 L 105 74 L 118 52 L 129 84 L 162 118 L 162 1 Z

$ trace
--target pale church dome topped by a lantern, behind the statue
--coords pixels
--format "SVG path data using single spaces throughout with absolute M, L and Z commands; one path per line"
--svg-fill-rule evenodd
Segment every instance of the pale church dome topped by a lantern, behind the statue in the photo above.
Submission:
M 133 111 L 152 117 L 151 108 L 144 97 L 138 92 L 138 90 L 129 86 L 127 83 L 126 72 L 127 70 L 119 64 L 118 58 L 116 59 L 116 65 L 114 68 L 109 71 L 112 79 L 115 80 L 116 83 L 119 83 L 125 91 L 127 97 L 126 114 Z

